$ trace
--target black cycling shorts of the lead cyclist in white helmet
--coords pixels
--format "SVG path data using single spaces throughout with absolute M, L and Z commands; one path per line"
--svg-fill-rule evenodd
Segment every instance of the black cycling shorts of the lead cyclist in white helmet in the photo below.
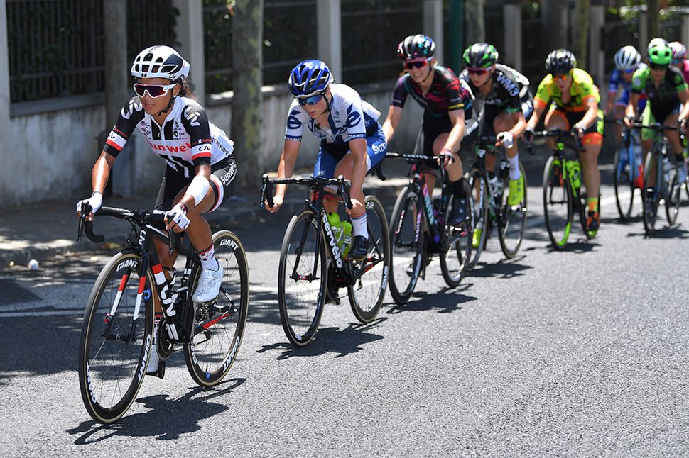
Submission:
M 227 201 L 229 196 L 232 196 L 234 191 L 234 178 L 237 177 L 237 163 L 234 161 L 234 156 L 225 157 L 223 160 L 216 162 L 210 166 L 210 187 L 215 193 L 215 201 L 209 211 L 210 213 Z M 156 210 L 168 211 L 173 208 L 175 198 L 180 191 L 186 186 L 189 186 L 194 177 L 187 178 L 184 172 L 166 165 L 165 175 L 163 175 L 163 182 L 161 189 L 158 191 L 158 198 L 156 199 Z

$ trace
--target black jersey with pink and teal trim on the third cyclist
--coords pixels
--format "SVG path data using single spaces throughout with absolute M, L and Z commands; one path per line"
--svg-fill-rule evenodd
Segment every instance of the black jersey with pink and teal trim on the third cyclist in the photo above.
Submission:
M 471 90 L 449 68 L 435 66 L 433 82 L 426 94 L 423 94 L 421 86 L 411 79 L 410 74 L 403 74 L 397 80 L 392 105 L 403 108 L 407 94 L 411 94 L 426 112 L 435 117 L 447 116 L 447 113 L 454 110 L 464 110 L 465 119 L 472 117 Z

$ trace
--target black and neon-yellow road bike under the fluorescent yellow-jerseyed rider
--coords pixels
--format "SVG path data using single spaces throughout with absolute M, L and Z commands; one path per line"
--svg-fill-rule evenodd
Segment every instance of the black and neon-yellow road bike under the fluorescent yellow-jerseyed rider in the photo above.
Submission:
M 583 177 L 579 154 L 584 148 L 577 135 L 577 130 L 542 130 L 534 132 L 533 137 L 554 137 L 555 149 L 548 157 L 543 168 L 543 211 L 546 219 L 548 238 L 553 247 L 563 250 L 572 230 L 574 213 L 579 214 L 582 230 L 586 238 L 595 238 L 597 230 L 586 228 L 586 190 L 582 188 Z M 565 145 L 565 137 L 574 138 L 574 147 Z M 531 150 L 531 141 L 526 142 Z M 573 152 L 573 158 L 568 159 L 567 150 Z M 599 194 L 600 201 L 600 194 Z M 599 207 L 600 214 L 600 207 Z

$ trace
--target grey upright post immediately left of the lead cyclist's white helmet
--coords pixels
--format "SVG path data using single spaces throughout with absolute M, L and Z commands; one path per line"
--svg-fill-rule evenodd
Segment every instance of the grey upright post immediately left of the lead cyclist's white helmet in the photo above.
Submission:
M 104 1 L 103 16 L 105 23 L 109 25 L 107 33 L 103 35 L 105 50 L 104 128 L 105 135 L 107 135 L 115 125 L 122 106 L 133 95 L 129 90 L 131 62 L 127 62 L 126 55 L 126 0 Z M 94 152 L 94 155 L 99 153 L 100 151 Z M 109 189 L 112 189 L 112 194 L 124 197 L 134 195 L 136 187 L 135 159 L 134 142 L 130 141 L 114 163 L 109 180 Z

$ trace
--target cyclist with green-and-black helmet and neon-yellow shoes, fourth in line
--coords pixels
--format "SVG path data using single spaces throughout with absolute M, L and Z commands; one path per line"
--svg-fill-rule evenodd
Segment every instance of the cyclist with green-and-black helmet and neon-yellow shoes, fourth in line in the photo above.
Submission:
M 504 145 L 509 159 L 509 206 L 518 205 L 524 197 L 524 179 L 519 169 L 516 139 L 526 128 L 533 113 L 533 96 L 528 91 L 528 78 L 506 65 L 497 63 L 498 51 L 488 43 L 474 43 L 464 52 L 465 69 L 460 73 L 477 101 L 482 101 L 482 135 L 496 135 L 496 146 Z M 486 157 L 488 177 L 494 177 L 495 157 Z M 473 243 L 478 247 L 481 229 L 474 229 Z

